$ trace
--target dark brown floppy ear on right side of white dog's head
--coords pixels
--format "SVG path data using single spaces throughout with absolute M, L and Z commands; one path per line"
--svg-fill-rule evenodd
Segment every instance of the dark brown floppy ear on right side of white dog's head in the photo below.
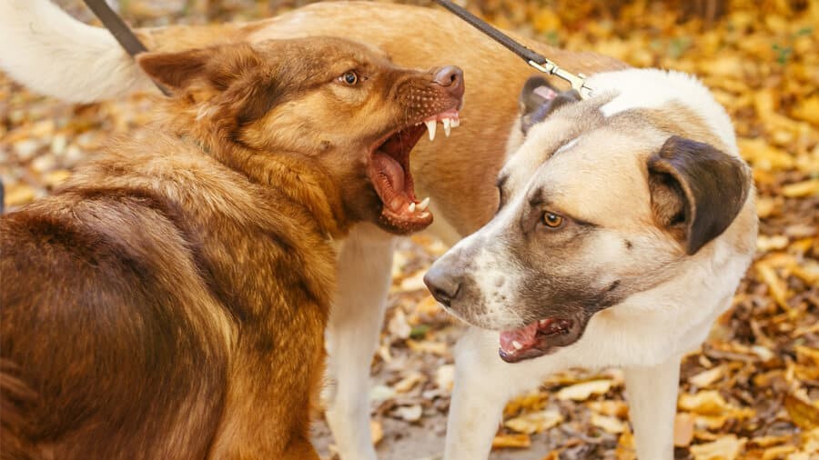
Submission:
M 677 135 L 649 158 L 648 171 L 654 219 L 688 255 L 731 225 L 751 188 L 742 160 Z

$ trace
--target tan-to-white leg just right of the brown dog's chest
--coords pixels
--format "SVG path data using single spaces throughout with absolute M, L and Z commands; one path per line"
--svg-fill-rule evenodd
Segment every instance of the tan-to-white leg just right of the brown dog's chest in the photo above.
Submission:
M 339 254 L 339 288 L 327 329 L 335 383 L 327 420 L 342 460 L 375 460 L 369 434 L 369 365 L 378 345 L 392 267 L 393 238 L 359 225 Z

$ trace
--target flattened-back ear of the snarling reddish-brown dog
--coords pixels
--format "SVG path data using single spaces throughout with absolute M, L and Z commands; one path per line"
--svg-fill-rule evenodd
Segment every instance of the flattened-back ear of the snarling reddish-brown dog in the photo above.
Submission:
M 222 91 L 239 75 L 258 66 L 256 51 L 247 44 L 219 45 L 176 53 L 143 53 L 136 62 L 160 85 L 173 90 L 205 82 Z

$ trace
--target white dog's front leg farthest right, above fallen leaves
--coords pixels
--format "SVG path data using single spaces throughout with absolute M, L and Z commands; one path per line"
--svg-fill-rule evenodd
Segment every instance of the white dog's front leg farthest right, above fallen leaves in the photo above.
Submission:
M 674 415 L 680 385 L 680 356 L 661 365 L 626 367 L 626 395 L 640 460 L 674 457 Z

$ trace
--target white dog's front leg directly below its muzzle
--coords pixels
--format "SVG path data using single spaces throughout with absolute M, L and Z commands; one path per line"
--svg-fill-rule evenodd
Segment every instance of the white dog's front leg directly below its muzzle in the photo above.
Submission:
M 488 458 L 506 402 L 537 385 L 529 365 L 501 360 L 497 332 L 470 328 L 455 348 L 455 387 L 444 458 Z

